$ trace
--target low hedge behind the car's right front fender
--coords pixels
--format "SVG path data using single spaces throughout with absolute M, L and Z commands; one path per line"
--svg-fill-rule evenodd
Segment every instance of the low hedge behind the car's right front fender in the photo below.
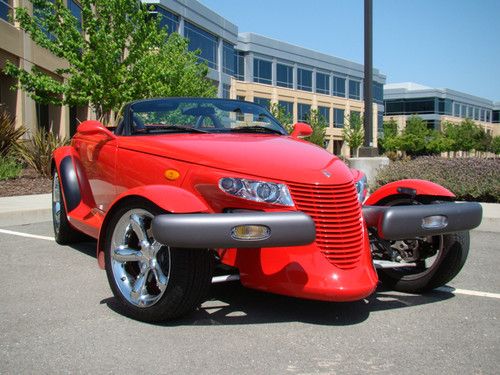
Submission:
M 395 161 L 381 169 L 374 189 L 389 182 L 418 178 L 451 190 L 458 200 L 500 203 L 500 159 L 445 159 L 425 156 Z

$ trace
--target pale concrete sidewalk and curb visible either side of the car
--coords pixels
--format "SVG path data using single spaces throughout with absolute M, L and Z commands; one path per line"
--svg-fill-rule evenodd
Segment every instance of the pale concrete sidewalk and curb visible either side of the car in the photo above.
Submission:
M 483 222 L 475 230 L 500 233 L 500 204 L 481 203 Z M 0 227 L 52 220 L 51 195 L 0 198 Z

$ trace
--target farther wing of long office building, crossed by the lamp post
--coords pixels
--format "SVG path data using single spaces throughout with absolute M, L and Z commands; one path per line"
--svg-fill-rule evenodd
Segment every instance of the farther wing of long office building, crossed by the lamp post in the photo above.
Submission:
M 363 65 L 254 33 L 240 33 L 235 69 L 231 98 L 264 106 L 276 103 L 285 108 L 294 122 L 305 121 L 310 110 L 316 109 L 328 124 L 327 150 L 348 155 L 342 128 L 350 114 L 361 115 L 364 111 Z M 377 124 L 382 124 L 384 82 L 385 76 L 375 70 L 375 140 Z

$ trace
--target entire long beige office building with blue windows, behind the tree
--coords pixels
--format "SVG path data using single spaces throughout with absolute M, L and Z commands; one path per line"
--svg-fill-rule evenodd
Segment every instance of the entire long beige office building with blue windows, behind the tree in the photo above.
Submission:
M 81 20 L 78 1 L 64 0 Z M 209 67 L 208 78 L 218 96 L 245 99 L 264 106 L 277 103 L 293 121 L 304 121 L 311 109 L 325 118 L 327 144 L 331 152 L 348 154 L 342 142 L 342 128 L 350 114 L 362 114 L 363 65 L 276 41 L 253 33 L 238 34 L 235 24 L 196 0 L 146 0 L 153 15 L 161 15 L 162 26 L 189 40 L 190 50 Z M 31 3 L 0 0 L 0 69 L 10 60 L 25 69 L 36 66 L 53 77 L 65 62 L 37 46 L 19 25 L 10 21 L 13 8 Z M 373 122 L 382 125 L 385 76 L 374 70 Z M 88 108 L 69 108 L 35 103 L 21 91 L 11 91 L 14 80 L 0 73 L 0 103 L 31 130 L 44 127 L 61 135 L 72 135 L 78 121 L 91 118 Z M 375 141 L 376 142 L 376 141 Z M 374 145 L 376 146 L 376 144 Z

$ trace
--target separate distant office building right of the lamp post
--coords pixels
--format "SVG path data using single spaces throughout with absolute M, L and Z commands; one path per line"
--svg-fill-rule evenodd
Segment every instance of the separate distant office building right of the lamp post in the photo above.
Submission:
M 441 129 L 443 121 L 460 123 L 471 119 L 491 135 L 500 134 L 498 103 L 495 107 L 491 100 L 455 90 L 436 89 L 413 82 L 386 84 L 384 109 L 384 121 L 396 120 L 400 129 L 410 116 L 417 115 L 430 128 L 437 130 Z

